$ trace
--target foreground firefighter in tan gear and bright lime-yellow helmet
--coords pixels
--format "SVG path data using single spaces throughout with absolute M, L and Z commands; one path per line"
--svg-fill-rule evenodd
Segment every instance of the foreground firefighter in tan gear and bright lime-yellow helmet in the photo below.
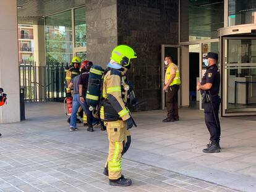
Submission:
M 111 61 L 105 70 L 102 85 L 102 104 L 100 107 L 100 118 L 105 122 L 108 131 L 108 178 L 109 185 L 129 186 L 132 180 L 124 178 L 122 170 L 122 154 L 129 148 L 127 138 L 130 140 L 129 128 L 134 121 L 126 107 L 127 84 L 124 75 L 130 68 L 130 60 L 136 59 L 137 55 L 132 48 L 119 45 L 113 49 Z M 129 86 L 128 86 L 129 87 Z M 127 95 L 127 93 L 126 93 Z M 127 144 L 126 144 L 127 143 Z

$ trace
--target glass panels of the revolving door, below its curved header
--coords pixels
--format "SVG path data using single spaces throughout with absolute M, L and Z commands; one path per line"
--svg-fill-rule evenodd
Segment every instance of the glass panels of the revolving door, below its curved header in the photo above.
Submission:
M 227 112 L 256 108 L 256 40 L 236 38 L 224 43 Z

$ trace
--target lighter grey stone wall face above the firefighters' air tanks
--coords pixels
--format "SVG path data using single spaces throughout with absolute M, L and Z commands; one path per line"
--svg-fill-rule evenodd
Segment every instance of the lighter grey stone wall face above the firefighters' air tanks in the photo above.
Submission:
M 117 1 L 86 0 L 87 59 L 106 67 L 117 46 Z

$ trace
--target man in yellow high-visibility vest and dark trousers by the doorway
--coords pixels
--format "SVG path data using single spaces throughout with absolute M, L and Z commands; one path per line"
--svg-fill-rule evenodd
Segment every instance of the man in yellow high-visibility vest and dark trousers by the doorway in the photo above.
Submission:
M 166 56 L 164 64 L 168 65 L 164 77 L 163 90 L 166 91 L 166 108 L 168 111 L 167 118 L 163 122 L 174 122 L 179 120 L 178 114 L 178 91 L 181 85 L 179 68 L 172 61 L 171 56 Z

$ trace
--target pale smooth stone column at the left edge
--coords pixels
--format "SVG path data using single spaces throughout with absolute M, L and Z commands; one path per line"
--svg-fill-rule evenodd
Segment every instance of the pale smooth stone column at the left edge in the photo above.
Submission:
M 17 1 L 0 1 L 0 87 L 7 104 L 0 107 L 0 123 L 20 121 L 20 79 L 17 36 Z

